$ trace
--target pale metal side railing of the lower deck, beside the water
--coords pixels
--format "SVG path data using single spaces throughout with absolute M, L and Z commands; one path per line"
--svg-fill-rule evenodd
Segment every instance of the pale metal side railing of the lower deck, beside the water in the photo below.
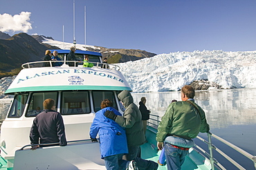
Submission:
M 152 126 L 154 129 L 157 129 L 158 124 L 160 122 L 160 117 L 158 115 L 152 115 L 150 114 L 150 118 L 147 121 L 147 125 L 148 126 Z M 217 140 L 219 140 L 220 142 L 222 142 L 223 144 L 228 145 L 228 147 L 235 149 L 235 151 L 241 153 L 241 155 L 246 156 L 246 158 L 250 159 L 253 161 L 253 164 L 255 166 L 256 169 L 256 156 L 255 155 L 251 155 L 250 153 L 244 151 L 243 149 L 235 146 L 235 144 L 232 144 L 226 140 L 224 140 L 223 138 L 220 138 L 217 135 L 214 135 L 213 133 L 208 132 L 208 141 L 204 140 L 203 138 L 201 138 L 200 136 L 197 136 L 196 138 L 201 140 L 202 142 L 204 142 L 205 144 L 208 144 L 208 149 L 209 149 L 209 153 L 207 151 L 205 151 L 204 149 L 202 149 L 201 147 L 199 147 L 198 145 L 194 144 L 194 147 L 196 147 L 196 149 L 199 149 L 201 151 L 201 153 L 204 153 L 204 155 L 207 155 L 209 160 L 210 160 L 210 164 L 212 167 L 212 170 L 214 170 L 214 164 L 217 165 L 217 167 L 220 167 L 221 169 L 226 169 L 225 167 L 223 167 L 222 164 L 220 164 L 213 156 L 213 152 L 212 149 L 214 149 L 215 151 L 217 151 L 218 153 L 220 153 L 224 158 L 226 158 L 229 162 L 231 162 L 232 164 L 235 165 L 235 167 L 237 167 L 238 169 L 244 169 L 244 167 L 242 167 L 239 163 L 237 163 L 235 160 L 233 160 L 232 158 L 230 158 L 228 155 L 226 155 L 226 153 L 224 153 L 223 151 L 221 151 L 221 149 L 218 149 L 216 146 L 214 146 L 214 144 L 212 144 L 212 138 L 215 138 Z

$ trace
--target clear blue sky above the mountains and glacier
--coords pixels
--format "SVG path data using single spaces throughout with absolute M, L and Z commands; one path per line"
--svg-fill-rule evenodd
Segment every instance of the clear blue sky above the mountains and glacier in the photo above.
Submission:
M 84 6 L 88 45 L 156 54 L 256 50 L 255 0 L 75 0 L 77 44 L 84 44 Z M 3 14 L 11 19 L 21 12 L 30 12 L 29 20 L 13 32 Z M 27 29 L 62 41 L 64 26 L 64 41 L 73 42 L 73 0 L 0 0 L 0 17 L 0 30 L 9 35 Z

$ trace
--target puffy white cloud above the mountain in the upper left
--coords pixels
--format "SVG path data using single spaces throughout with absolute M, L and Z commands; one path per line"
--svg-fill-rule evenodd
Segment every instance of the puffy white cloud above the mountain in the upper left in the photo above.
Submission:
M 4 13 L 0 14 L 0 31 L 22 31 L 28 32 L 32 29 L 30 21 L 31 12 L 21 12 L 19 15 L 12 15 Z

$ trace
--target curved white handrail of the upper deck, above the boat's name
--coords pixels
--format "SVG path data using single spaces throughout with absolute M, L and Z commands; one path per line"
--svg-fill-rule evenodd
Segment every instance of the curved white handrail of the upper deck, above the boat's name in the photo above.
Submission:
M 42 66 L 35 66 L 35 64 L 44 64 L 44 63 L 47 63 L 47 64 L 50 64 L 50 66 L 47 66 L 47 67 L 55 67 L 53 66 L 53 63 L 55 62 L 62 62 L 62 66 L 68 66 L 66 63 L 74 63 L 74 66 L 71 66 L 71 67 L 75 67 L 76 64 L 80 63 L 80 64 L 84 64 L 85 62 L 81 62 L 81 61 L 39 61 L 39 62 L 27 62 L 25 64 L 22 64 L 21 67 L 23 69 L 26 69 L 26 68 L 37 68 L 37 67 L 42 67 Z M 101 68 L 101 66 L 104 64 L 104 63 L 100 63 L 100 62 L 89 62 L 89 63 L 92 63 L 92 64 L 96 64 L 95 67 L 97 68 Z M 120 70 L 120 66 L 117 66 L 115 64 L 108 64 L 109 66 L 111 66 L 111 69 L 110 70 Z M 60 66 L 60 67 L 62 67 Z M 82 66 L 82 65 L 81 65 Z M 43 66 L 45 67 L 45 66 Z M 107 68 L 104 68 L 104 69 L 107 69 Z

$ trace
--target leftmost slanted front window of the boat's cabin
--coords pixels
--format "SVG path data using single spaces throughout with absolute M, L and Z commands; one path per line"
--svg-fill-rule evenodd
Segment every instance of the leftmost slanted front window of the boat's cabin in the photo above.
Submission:
M 21 117 L 24 112 L 27 99 L 28 93 L 15 95 L 8 117 Z

